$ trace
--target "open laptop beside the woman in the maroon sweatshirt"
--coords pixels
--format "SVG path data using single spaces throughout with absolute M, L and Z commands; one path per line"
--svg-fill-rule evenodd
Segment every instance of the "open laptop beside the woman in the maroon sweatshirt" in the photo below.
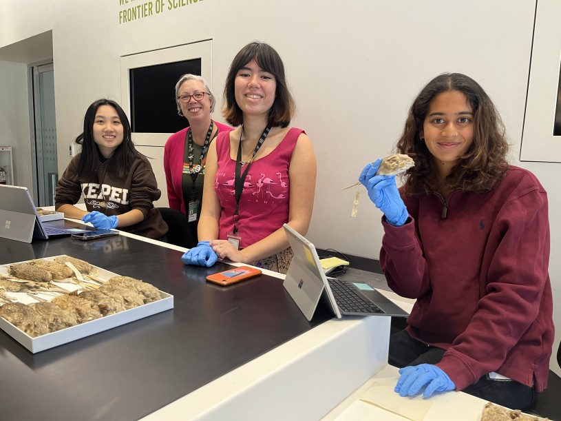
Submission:
M 312 320 L 320 299 L 325 300 L 337 318 L 366 315 L 409 316 L 407 311 L 366 283 L 328 278 L 314 245 L 286 224 L 284 230 L 294 257 L 283 286 L 308 320 Z

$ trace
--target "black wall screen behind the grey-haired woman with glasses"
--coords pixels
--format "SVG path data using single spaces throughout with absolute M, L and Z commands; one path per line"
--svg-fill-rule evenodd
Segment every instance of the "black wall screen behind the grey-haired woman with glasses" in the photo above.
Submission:
M 176 83 L 185 73 L 201 74 L 201 59 L 129 69 L 130 119 L 134 133 L 175 133 L 189 125 L 178 114 Z

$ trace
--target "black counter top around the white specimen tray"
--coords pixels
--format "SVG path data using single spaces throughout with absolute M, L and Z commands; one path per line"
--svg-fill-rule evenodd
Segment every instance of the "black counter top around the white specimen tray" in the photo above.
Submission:
M 0 238 L 0 264 L 67 254 L 174 296 L 174 309 L 40 353 L 0 331 L 0 419 L 137 420 L 332 318 L 301 314 L 282 280 L 230 287 L 227 269 L 183 265 L 181 251 L 126 236 L 32 244 Z

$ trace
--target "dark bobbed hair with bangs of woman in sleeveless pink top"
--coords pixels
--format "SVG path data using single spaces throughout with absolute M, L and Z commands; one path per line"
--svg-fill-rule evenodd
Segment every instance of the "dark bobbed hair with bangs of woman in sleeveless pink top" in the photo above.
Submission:
M 244 123 L 242 110 L 235 102 L 234 82 L 237 72 L 253 59 L 257 61 L 260 68 L 273 74 L 277 82 L 275 102 L 269 110 L 268 123 L 273 127 L 288 126 L 294 116 L 296 106 L 286 83 L 282 59 L 271 45 L 259 41 L 248 43 L 235 55 L 230 65 L 224 85 L 224 107 L 222 108 L 224 119 L 234 127 Z

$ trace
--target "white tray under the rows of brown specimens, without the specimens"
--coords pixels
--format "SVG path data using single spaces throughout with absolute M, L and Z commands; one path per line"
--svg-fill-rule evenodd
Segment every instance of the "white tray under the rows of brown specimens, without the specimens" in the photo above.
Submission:
M 47 257 L 43 258 L 42 260 L 53 260 L 55 257 L 59 256 Z M 13 263 L 0 265 L 0 275 L 8 275 L 8 267 L 12 264 Z M 113 276 L 119 276 L 114 272 L 107 271 L 94 265 L 92 266 L 97 269 L 98 273 L 96 274 L 96 277 L 100 278 L 101 280 L 108 280 Z M 80 288 L 78 285 L 74 285 L 72 283 L 63 283 L 59 281 L 54 282 L 54 284 L 59 285 L 60 287 L 63 287 L 64 289 L 67 289 L 69 291 L 74 291 L 75 289 Z M 120 325 L 125 325 L 129 322 L 134 322 L 134 320 L 161 313 L 162 311 L 173 309 L 173 296 L 163 291 L 160 291 L 160 294 L 162 296 L 161 300 L 149 302 L 148 304 L 141 305 L 139 307 L 120 311 L 119 313 L 110 314 L 109 316 L 104 316 L 96 320 L 90 320 L 89 322 L 81 323 L 80 325 L 72 327 L 67 327 L 65 329 L 47 333 L 42 336 L 36 336 L 35 338 L 32 338 L 27 333 L 12 325 L 12 323 L 8 322 L 8 320 L 1 317 L 0 329 L 8 333 L 8 335 L 12 336 L 12 338 L 17 340 L 17 342 L 19 342 L 32 353 L 36 353 L 45 351 L 45 349 L 58 347 L 59 345 L 72 342 L 73 340 L 85 338 L 86 336 L 94 335 L 95 333 L 109 330 Z M 16 298 L 19 302 L 23 302 L 23 304 L 30 304 L 31 302 L 39 301 L 34 300 L 32 297 L 28 296 L 28 294 L 22 292 L 7 292 L 6 295 L 8 295 L 10 298 Z M 39 295 L 41 298 L 50 300 L 50 298 L 53 298 L 56 294 L 52 294 L 50 292 L 41 292 L 37 295 Z

